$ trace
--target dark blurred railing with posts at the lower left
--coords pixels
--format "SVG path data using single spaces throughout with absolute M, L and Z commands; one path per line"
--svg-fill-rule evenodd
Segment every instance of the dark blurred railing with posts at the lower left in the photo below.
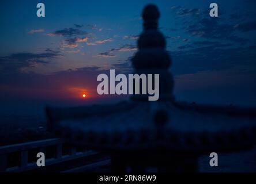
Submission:
M 53 147 L 52 158 L 45 159 L 45 165 L 49 166 L 51 164 L 57 164 L 65 162 L 72 159 L 82 158 L 84 156 L 95 155 L 99 152 L 93 150 L 77 151 L 76 147 L 69 147 L 68 154 L 63 154 L 64 142 L 61 139 L 46 139 L 39 141 L 32 141 L 28 143 L 6 145 L 0 147 L 0 172 L 21 172 L 28 171 L 38 168 L 35 161 L 29 162 L 28 154 L 32 150 L 39 150 L 39 152 L 46 153 L 47 147 Z M 8 157 L 11 154 L 18 153 L 20 158 L 18 158 L 18 164 L 16 166 L 9 167 Z M 36 154 L 35 154 L 36 159 Z

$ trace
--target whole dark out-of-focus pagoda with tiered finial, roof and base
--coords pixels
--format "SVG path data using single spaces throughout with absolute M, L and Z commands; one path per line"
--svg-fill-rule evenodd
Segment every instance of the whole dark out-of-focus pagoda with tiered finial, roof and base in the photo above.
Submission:
M 256 110 L 175 102 L 165 38 L 157 30 L 159 10 L 147 5 L 144 32 L 133 57 L 137 74 L 160 74 L 159 101 L 134 95 L 128 102 L 84 108 L 47 108 L 55 135 L 86 148 L 109 152 L 112 171 L 197 171 L 198 157 L 243 150 L 256 140 Z

